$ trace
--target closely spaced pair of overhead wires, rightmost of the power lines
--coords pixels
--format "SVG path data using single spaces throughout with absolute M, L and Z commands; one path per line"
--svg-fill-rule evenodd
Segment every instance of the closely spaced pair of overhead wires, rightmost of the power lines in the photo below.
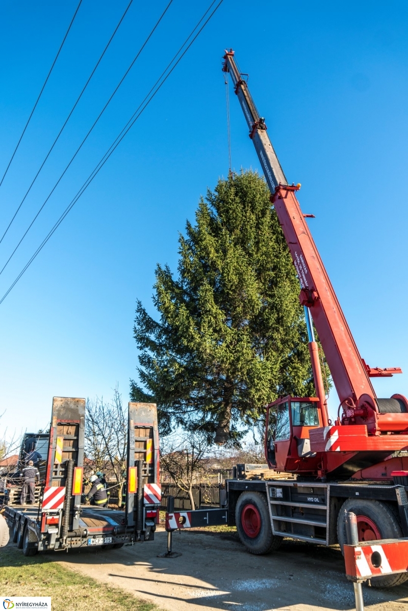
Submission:
M 73 206 L 75 205 L 75 203 L 78 201 L 78 199 L 80 199 L 81 195 L 84 193 L 84 191 L 87 189 L 87 187 L 91 184 L 92 180 L 94 180 L 95 176 L 98 174 L 98 172 L 102 169 L 102 167 L 105 165 L 106 161 L 108 161 L 109 157 L 112 155 L 112 153 L 114 152 L 114 150 L 116 149 L 116 147 L 120 144 L 120 142 L 122 141 L 122 139 L 124 139 L 124 137 L 126 136 L 126 134 L 128 133 L 128 131 L 132 128 L 132 126 L 135 124 L 136 120 L 138 120 L 139 116 L 142 114 L 142 112 L 144 111 L 144 109 L 149 105 L 150 101 L 152 101 L 152 99 L 155 97 L 156 93 L 158 92 L 158 90 L 160 90 L 160 88 L 163 86 L 163 84 L 165 84 L 166 80 L 168 79 L 168 77 L 171 75 L 172 71 L 174 70 L 174 68 L 176 68 L 177 64 L 179 64 L 180 60 L 182 59 L 182 57 L 184 57 L 185 53 L 187 53 L 188 49 L 190 49 L 190 46 L 193 44 L 193 42 L 195 42 L 196 38 L 199 36 L 199 34 L 201 34 L 202 30 L 204 29 L 204 27 L 206 27 L 207 23 L 210 21 L 210 19 L 212 18 L 212 16 L 214 15 L 214 13 L 217 11 L 217 9 L 220 7 L 220 5 L 222 4 L 223 0 L 220 0 L 217 4 L 217 6 L 215 7 L 215 9 L 213 10 L 213 12 L 209 15 L 209 17 L 207 18 L 207 20 L 204 22 L 204 24 L 202 24 L 201 28 L 199 29 L 199 31 L 196 33 L 195 37 L 191 40 L 191 42 L 188 44 L 187 48 L 184 49 L 183 53 L 180 55 L 179 59 L 177 59 L 177 62 L 172 66 L 171 70 L 169 70 L 168 74 L 165 76 L 165 78 L 163 78 L 163 80 L 161 81 L 160 85 L 157 87 L 157 89 L 154 90 L 154 88 L 157 86 L 158 82 L 160 81 L 160 79 L 163 77 L 163 75 L 165 75 L 166 71 L 168 70 L 168 68 L 170 67 L 170 65 L 172 64 L 172 62 L 174 62 L 174 60 L 176 59 L 177 55 L 181 52 L 182 48 L 187 44 L 188 40 L 191 38 L 191 36 L 193 35 L 193 33 L 196 31 L 196 29 L 198 28 L 199 24 L 201 23 L 201 21 L 205 18 L 205 16 L 207 15 L 207 13 L 209 12 L 209 10 L 212 8 L 213 4 L 215 4 L 217 0 L 213 0 L 213 2 L 210 4 L 209 8 L 206 10 L 206 12 L 204 13 L 204 15 L 201 17 L 201 19 L 198 21 L 198 24 L 193 28 L 193 30 L 191 31 L 191 33 L 188 35 L 188 37 L 186 38 L 185 42 L 182 44 L 182 46 L 180 46 L 179 51 L 177 51 L 176 55 L 173 57 L 173 59 L 171 60 L 171 62 L 168 64 L 168 67 L 163 71 L 163 73 L 161 74 L 161 76 L 158 78 L 158 80 L 156 81 L 155 85 L 152 87 L 152 89 L 150 89 L 150 92 L 147 94 L 147 96 L 144 98 L 143 102 L 141 104 L 139 104 L 138 109 L 136 109 L 135 113 L 132 115 L 132 117 L 130 118 L 130 120 L 127 122 L 127 124 L 125 125 L 125 127 L 123 128 L 123 130 L 121 131 L 121 133 L 119 134 L 119 136 L 116 137 L 116 139 L 113 141 L 113 144 L 111 144 L 111 146 L 108 148 L 108 150 L 106 151 L 105 155 L 103 155 L 102 159 L 100 160 L 100 162 L 97 164 L 97 166 L 95 166 L 94 170 L 91 172 L 91 174 L 89 175 L 89 177 L 87 178 L 87 180 L 84 182 L 83 186 L 81 186 L 80 190 L 76 193 L 76 196 L 71 200 L 71 202 L 69 203 L 69 205 L 67 206 L 67 208 L 65 208 L 64 212 L 61 214 L 61 216 L 59 217 L 59 219 L 57 220 L 57 222 L 54 224 L 53 228 L 50 230 L 50 232 L 48 233 L 48 235 L 44 238 L 44 240 L 42 241 L 42 243 L 40 244 L 40 246 L 37 248 L 37 250 L 34 252 L 34 254 L 31 256 L 31 258 L 28 260 L 28 262 L 26 263 L 26 265 L 24 265 L 24 268 L 21 270 L 20 274 L 18 274 L 17 278 L 14 280 L 14 282 L 12 283 L 12 285 L 10 285 L 9 289 L 6 291 L 6 293 L 4 293 L 4 295 L 2 296 L 2 298 L 0 299 L 0 304 L 2 304 L 2 302 L 4 301 L 4 299 L 6 299 L 7 295 L 9 295 L 10 291 L 13 289 L 13 287 L 15 287 L 15 285 L 17 284 L 18 280 L 20 280 L 21 276 L 23 276 L 23 274 L 26 272 L 26 270 L 29 268 L 29 266 L 31 265 L 31 263 L 34 261 L 35 257 L 37 257 L 37 255 L 40 253 L 40 251 L 42 251 L 43 247 L 45 246 L 45 244 L 48 242 L 48 240 L 50 240 L 51 236 L 53 235 L 53 233 L 56 231 L 56 229 L 59 227 L 59 225 L 61 225 L 62 221 L 64 221 L 65 216 L 67 216 L 67 214 L 69 214 L 70 210 L 72 210 Z M 152 93 L 153 92 L 153 93 Z M 152 95 L 150 95 L 150 93 Z M 149 97 L 150 96 L 150 97 Z M 146 101 L 147 100 L 147 101 Z M 146 101 L 146 103 L 144 103 Z M 143 106 L 144 104 L 144 106 Z

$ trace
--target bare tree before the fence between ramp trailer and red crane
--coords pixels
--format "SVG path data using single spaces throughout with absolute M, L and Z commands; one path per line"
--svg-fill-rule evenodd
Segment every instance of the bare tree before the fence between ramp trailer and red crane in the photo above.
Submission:
M 172 434 L 161 440 L 161 469 L 169 474 L 177 488 L 187 492 L 192 510 L 196 508 L 193 484 L 200 481 L 206 470 L 203 459 L 207 450 L 206 437 L 200 433 Z

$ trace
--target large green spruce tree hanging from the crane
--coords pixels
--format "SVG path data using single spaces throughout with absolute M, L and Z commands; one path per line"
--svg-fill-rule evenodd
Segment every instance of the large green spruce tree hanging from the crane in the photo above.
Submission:
M 179 238 L 175 277 L 158 265 L 154 304 L 138 302 L 139 383 L 133 401 L 155 401 L 161 430 L 206 431 L 239 441 L 279 395 L 313 396 L 299 281 L 254 172 L 220 179 Z

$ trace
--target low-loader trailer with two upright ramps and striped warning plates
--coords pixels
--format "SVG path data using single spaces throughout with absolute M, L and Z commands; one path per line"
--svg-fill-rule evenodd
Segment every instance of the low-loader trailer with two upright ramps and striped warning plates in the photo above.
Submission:
M 23 554 L 122 547 L 154 540 L 161 500 L 157 409 L 129 403 L 125 511 L 81 505 L 85 400 L 54 397 L 45 480 L 33 505 L 10 503 L 5 517 Z

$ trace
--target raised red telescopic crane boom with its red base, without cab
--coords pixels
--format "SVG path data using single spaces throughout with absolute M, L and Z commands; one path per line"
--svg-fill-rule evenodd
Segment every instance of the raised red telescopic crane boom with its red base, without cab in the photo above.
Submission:
M 369 460 L 370 464 L 396 449 L 408 446 L 408 401 L 402 395 L 389 399 L 377 398 L 371 384 L 371 377 L 391 376 L 402 373 L 399 368 L 370 368 L 358 352 L 344 313 L 336 297 L 332 283 L 324 268 L 311 236 L 305 217 L 296 197 L 300 185 L 289 185 L 281 164 L 270 142 L 264 117 L 259 115 L 247 80 L 239 70 L 234 51 L 226 51 L 223 70 L 231 75 L 235 93 L 240 101 L 243 114 L 248 123 L 250 138 L 253 141 L 265 179 L 271 192 L 287 246 L 300 282 L 300 303 L 305 306 L 306 326 L 308 327 L 309 348 L 313 367 L 314 385 L 319 398 L 320 427 L 310 430 L 311 448 L 324 452 L 330 451 L 330 436 L 344 439 L 344 450 L 377 450 L 380 454 Z M 313 337 L 313 324 L 327 360 L 343 408 L 341 420 L 331 426 L 328 420 L 321 368 L 317 344 Z M 275 402 L 276 403 L 276 402 Z M 293 424 L 293 423 L 292 423 Z M 349 426 L 354 425 L 351 430 Z M 350 436 L 353 437 L 351 447 Z M 376 438 L 374 441 L 370 437 Z M 392 441 L 390 436 L 393 437 Z M 398 436 L 399 439 L 396 439 Z M 347 437 L 347 442 L 346 442 Z M 402 439 L 404 437 L 404 439 Z M 340 450 L 339 442 L 333 450 Z M 385 453 L 385 454 L 384 454 Z M 366 459 L 368 456 L 366 456 Z M 286 465 L 287 466 L 287 465 Z M 358 465 L 354 467 L 354 471 Z M 321 471 L 330 470 L 326 469 Z

